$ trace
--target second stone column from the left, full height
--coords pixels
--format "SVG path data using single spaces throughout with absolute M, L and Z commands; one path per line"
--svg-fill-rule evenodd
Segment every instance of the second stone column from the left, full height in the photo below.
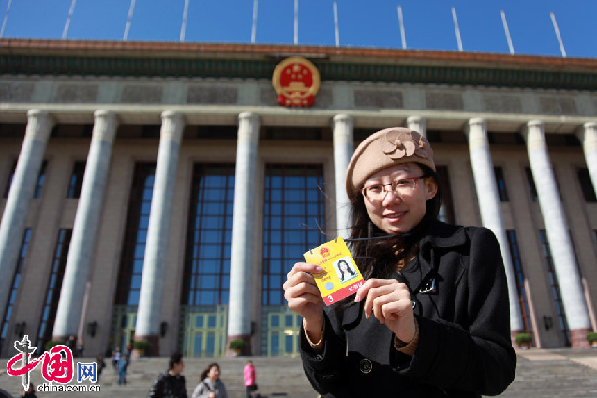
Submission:
M 55 340 L 67 340 L 69 335 L 76 336 L 81 322 L 85 283 L 89 279 L 95 254 L 103 195 L 110 171 L 112 142 L 118 126 L 117 117 L 112 112 L 97 110 L 94 118 L 81 196 L 78 199 L 65 276 L 52 331 Z

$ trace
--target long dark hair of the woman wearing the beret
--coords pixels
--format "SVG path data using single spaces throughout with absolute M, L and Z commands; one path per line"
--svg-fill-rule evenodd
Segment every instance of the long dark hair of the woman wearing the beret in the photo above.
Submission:
M 371 240 L 353 240 L 351 251 L 355 262 L 357 263 L 364 279 L 369 278 L 388 278 L 396 265 L 401 260 L 407 260 L 408 256 L 414 254 L 419 240 L 423 238 L 423 233 L 430 223 L 437 219 L 439 208 L 442 206 L 442 191 L 439 188 L 439 178 L 437 174 L 427 167 L 417 163 L 423 170 L 423 176 L 430 177 L 437 184 L 437 193 L 435 197 L 426 201 L 425 216 L 419 224 L 404 236 L 389 239 L 371 239 Z M 353 228 L 351 239 L 375 238 L 376 236 L 385 236 L 387 233 L 379 229 L 367 214 L 367 208 L 364 204 L 364 197 L 359 191 L 351 192 L 348 199 L 352 205 Z

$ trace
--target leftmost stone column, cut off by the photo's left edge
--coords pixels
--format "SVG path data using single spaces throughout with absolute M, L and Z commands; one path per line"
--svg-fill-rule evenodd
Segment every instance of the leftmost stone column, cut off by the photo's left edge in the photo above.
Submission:
M 37 176 L 52 126 L 53 119 L 49 113 L 42 110 L 28 111 L 21 154 L 0 222 L 0 326 L 6 316 L 4 312 L 12 276 L 17 270 L 29 204 L 37 187 Z

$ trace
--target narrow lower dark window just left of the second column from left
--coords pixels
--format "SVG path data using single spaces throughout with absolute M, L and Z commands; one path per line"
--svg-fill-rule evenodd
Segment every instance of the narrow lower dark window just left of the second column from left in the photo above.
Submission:
M 44 301 L 44 310 L 42 310 L 42 319 L 40 329 L 37 332 L 37 352 L 44 351 L 44 346 L 52 338 L 54 329 L 54 319 L 58 309 L 58 300 L 60 299 L 60 289 L 62 289 L 62 279 L 65 276 L 67 266 L 67 255 L 69 254 L 69 245 L 71 242 L 72 229 L 60 229 L 58 232 L 58 241 L 54 250 L 52 260 L 52 273 L 46 289 L 46 299 Z

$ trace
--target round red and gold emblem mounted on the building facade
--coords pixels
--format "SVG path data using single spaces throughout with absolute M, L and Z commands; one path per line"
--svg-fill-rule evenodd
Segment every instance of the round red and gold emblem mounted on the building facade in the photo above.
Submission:
M 312 106 L 319 91 L 319 71 L 310 60 L 289 57 L 274 69 L 271 83 L 283 106 Z

